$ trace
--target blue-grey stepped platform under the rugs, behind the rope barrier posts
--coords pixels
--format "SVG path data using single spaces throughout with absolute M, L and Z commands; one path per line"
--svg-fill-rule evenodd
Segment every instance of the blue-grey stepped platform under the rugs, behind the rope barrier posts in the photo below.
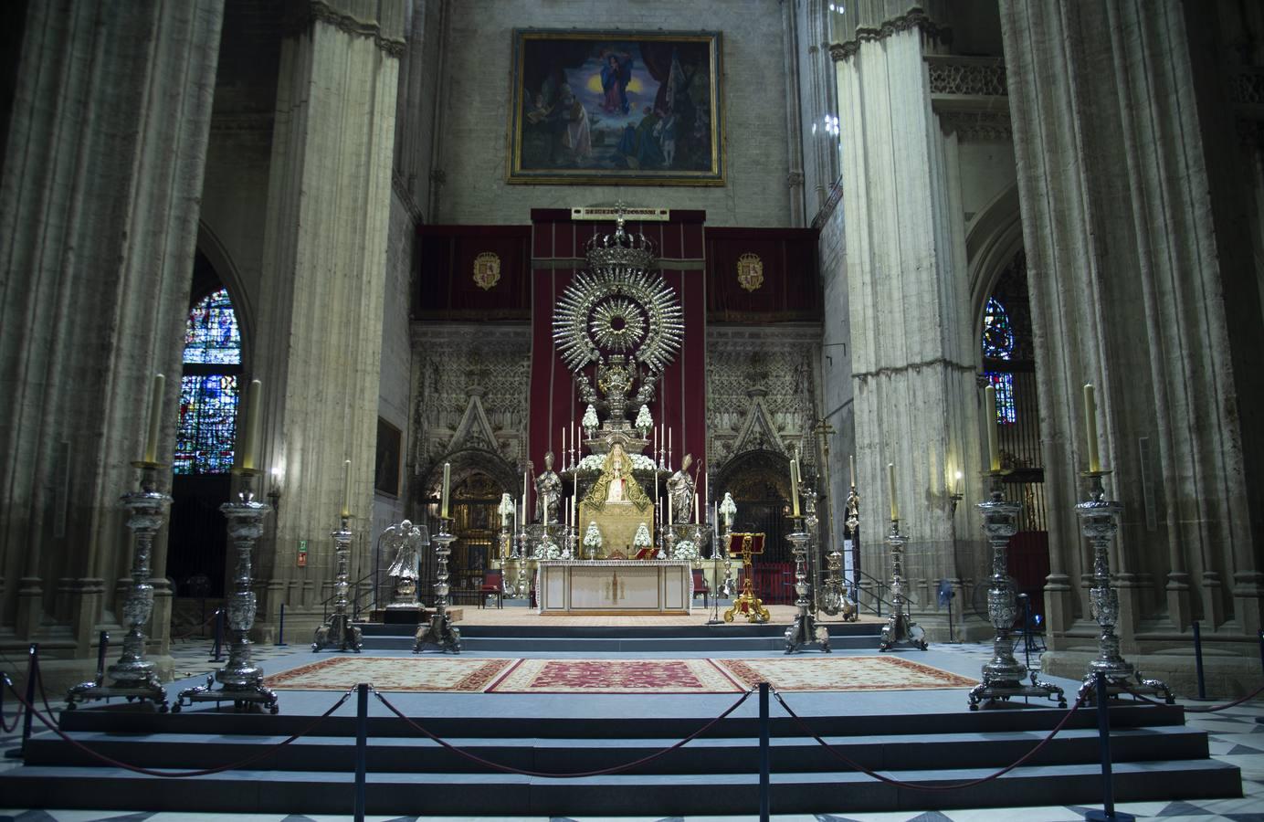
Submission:
M 413 665 L 455 659 L 495 663 L 497 654 L 413 656 L 379 651 Z M 552 655 L 547 655 L 552 656 Z M 661 655 L 642 655 L 643 658 Z M 870 653 L 744 655 L 750 663 L 833 661 Z M 981 655 L 905 651 L 910 660 L 977 678 Z M 297 653 L 264 663 L 269 677 L 313 664 L 365 661 L 354 654 Z M 612 661 L 633 655 L 607 656 Z M 713 660 L 714 661 L 714 660 Z M 169 685 L 169 690 L 196 679 Z M 1053 679 L 1068 693 L 1077 683 Z M 483 760 L 537 774 L 574 774 L 631 763 L 699 731 L 741 698 L 731 693 L 406 693 L 379 688 L 413 723 Z M 868 692 L 781 692 L 811 732 L 865 768 L 911 785 L 942 785 L 992 774 L 1038 745 L 1066 717 L 1033 701 L 980 712 L 966 707 L 966 687 Z M 158 715 L 116 703 L 63 715 L 76 741 L 119 761 L 193 769 L 239 761 L 272 749 L 244 769 L 193 779 L 161 779 L 102 765 L 52 737 L 32 740 L 27 764 L 0 774 L 14 807 L 92 807 L 238 813 L 346 813 L 354 769 L 354 699 L 293 742 L 341 696 L 335 690 L 281 690 L 281 715 L 234 713 L 229 706 Z M 617 775 L 560 778 L 501 773 L 461 758 L 393 716 L 378 699 L 368 709 L 368 813 L 508 818 L 581 814 L 737 814 L 758 807 L 758 706 L 748 697 L 686 746 Z M 1186 726 L 1179 706 L 1111 708 L 1115 792 L 1119 802 L 1163 807 L 1173 799 L 1240 797 L 1236 766 L 1208 756 L 1207 735 Z M 921 793 L 851 770 L 804 733 L 774 701 L 771 707 L 774 813 L 857 813 L 948 808 L 1100 804 L 1096 716 L 1078 711 L 1034 759 L 991 782 Z

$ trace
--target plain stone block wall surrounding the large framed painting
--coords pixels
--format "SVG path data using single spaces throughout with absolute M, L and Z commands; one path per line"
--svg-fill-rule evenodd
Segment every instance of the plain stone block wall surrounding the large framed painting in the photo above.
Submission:
M 739 13 L 734 13 L 739 9 Z M 431 223 L 522 224 L 531 209 L 613 202 L 704 209 L 708 225 L 790 225 L 782 9 L 771 0 L 465 0 L 447 10 Z M 512 29 L 719 30 L 727 183 L 722 187 L 507 185 Z

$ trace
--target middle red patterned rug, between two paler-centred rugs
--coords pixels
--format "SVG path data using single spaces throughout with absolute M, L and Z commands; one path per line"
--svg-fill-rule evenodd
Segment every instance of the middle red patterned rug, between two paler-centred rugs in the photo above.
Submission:
M 709 659 L 523 659 L 492 693 L 736 693 Z

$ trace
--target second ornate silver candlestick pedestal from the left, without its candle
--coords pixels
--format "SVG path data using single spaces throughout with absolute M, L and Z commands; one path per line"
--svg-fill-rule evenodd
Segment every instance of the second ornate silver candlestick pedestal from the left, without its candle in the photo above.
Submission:
M 225 502 L 220 511 L 229 521 L 229 540 L 236 549 L 236 568 L 234 569 L 234 591 L 228 597 L 228 623 L 230 634 L 229 660 L 224 668 L 206 678 L 205 685 L 186 688 L 179 692 L 172 711 L 179 711 L 183 704 L 195 702 L 233 702 L 238 711 L 250 703 L 258 703 L 269 712 L 277 712 L 277 694 L 263 684 L 263 672 L 250 660 L 250 629 L 254 626 L 254 592 L 250 589 L 250 551 L 255 540 L 263 534 L 263 517 L 272 507 L 254 501 L 250 486 L 254 483 L 254 470 L 236 469 L 245 477 L 245 491 L 238 493 L 236 502 Z M 214 689 L 219 682 L 220 688 Z

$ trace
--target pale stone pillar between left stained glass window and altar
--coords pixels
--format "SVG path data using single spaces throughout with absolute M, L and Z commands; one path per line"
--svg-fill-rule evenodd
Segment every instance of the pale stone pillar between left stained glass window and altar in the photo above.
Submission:
M 351 460 L 353 573 L 367 570 L 373 501 L 396 91 L 403 4 L 310 0 L 282 42 L 264 236 L 260 349 L 265 463 L 284 473 L 273 553 L 259 558 L 257 626 L 282 597 L 301 635 L 330 593 L 330 531 Z M 402 298 L 402 295 L 401 295 Z M 298 540 L 308 561 L 298 568 Z M 295 636 L 292 635 L 292 636 Z

